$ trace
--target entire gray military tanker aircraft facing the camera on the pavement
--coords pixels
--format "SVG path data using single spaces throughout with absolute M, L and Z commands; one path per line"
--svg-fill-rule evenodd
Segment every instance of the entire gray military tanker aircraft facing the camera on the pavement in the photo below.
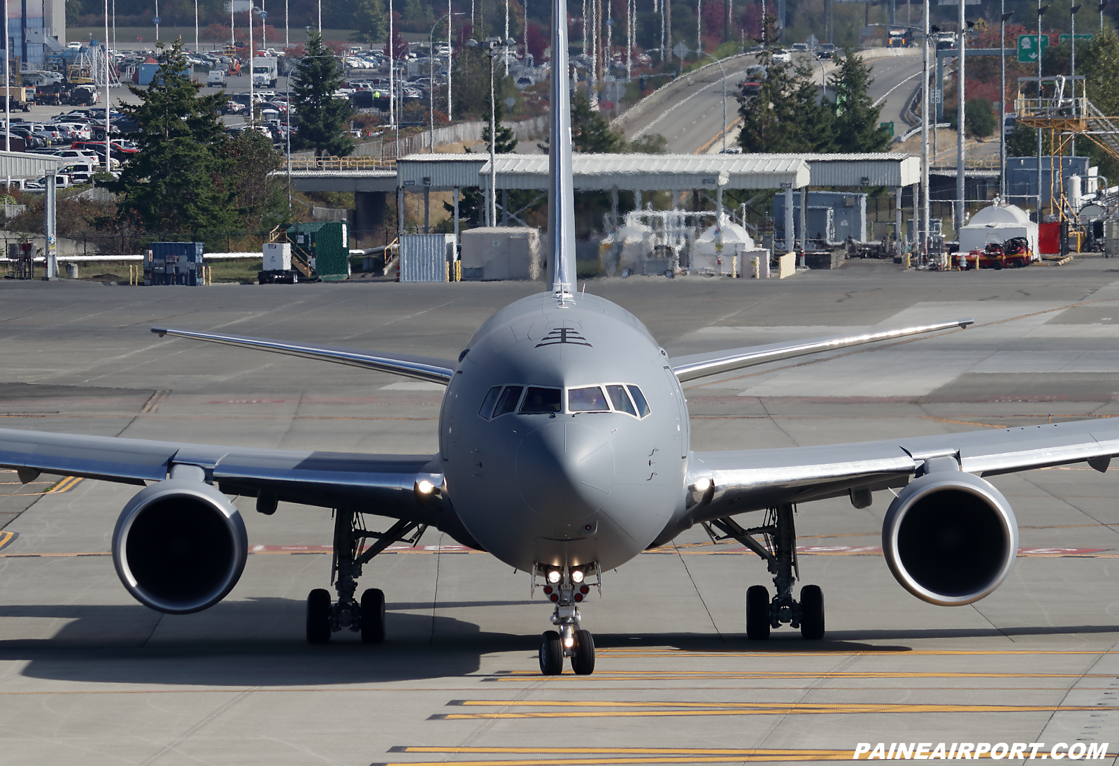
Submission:
M 567 72 L 567 16 L 553 0 L 553 74 Z M 307 639 L 349 630 L 385 636 L 385 597 L 355 598 L 364 565 L 391 543 L 435 527 L 529 573 L 554 604 L 540 671 L 594 670 L 580 606 L 603 569 L 664 545 L 695 524 L 764 559 L 775 594 L 746 592 L 746 635 L 799 627 L 824 636 L 824 596 L 798 576 L 794 504 L 900 492 L 882 530 L 886 564 L 918 598 L 970 604 L 1006 578 L 1018 532 L 1006 498 L 984 477 L 1087 462 L 1106 471 L 1119 454 L 1110 422 L 780 450 L 695 452 L 681 381 L 904 335 L 965 328 L 970 320 L 669 358 L 632 314 L 573 291 L 574 212 L 566 78 L 552 78 L 548 238 L 552 289 L 491 316 L 455 360 L 152 328 L 162 335 L 363 367 L 446 386 L 434 455 L 246 450 L 0 429 L 0 465 L 23 482 L 39 473 L 143 486 L 113 532 L 113 561 L 142 604 L 187 614 L 237 583 L 247 541 L 227 495 L 335 510 L 337 598 L 307 599 Z M 760 526 L 734 519 L 762 512 Z M 367 516 L 394 520 L 369 531 Z

